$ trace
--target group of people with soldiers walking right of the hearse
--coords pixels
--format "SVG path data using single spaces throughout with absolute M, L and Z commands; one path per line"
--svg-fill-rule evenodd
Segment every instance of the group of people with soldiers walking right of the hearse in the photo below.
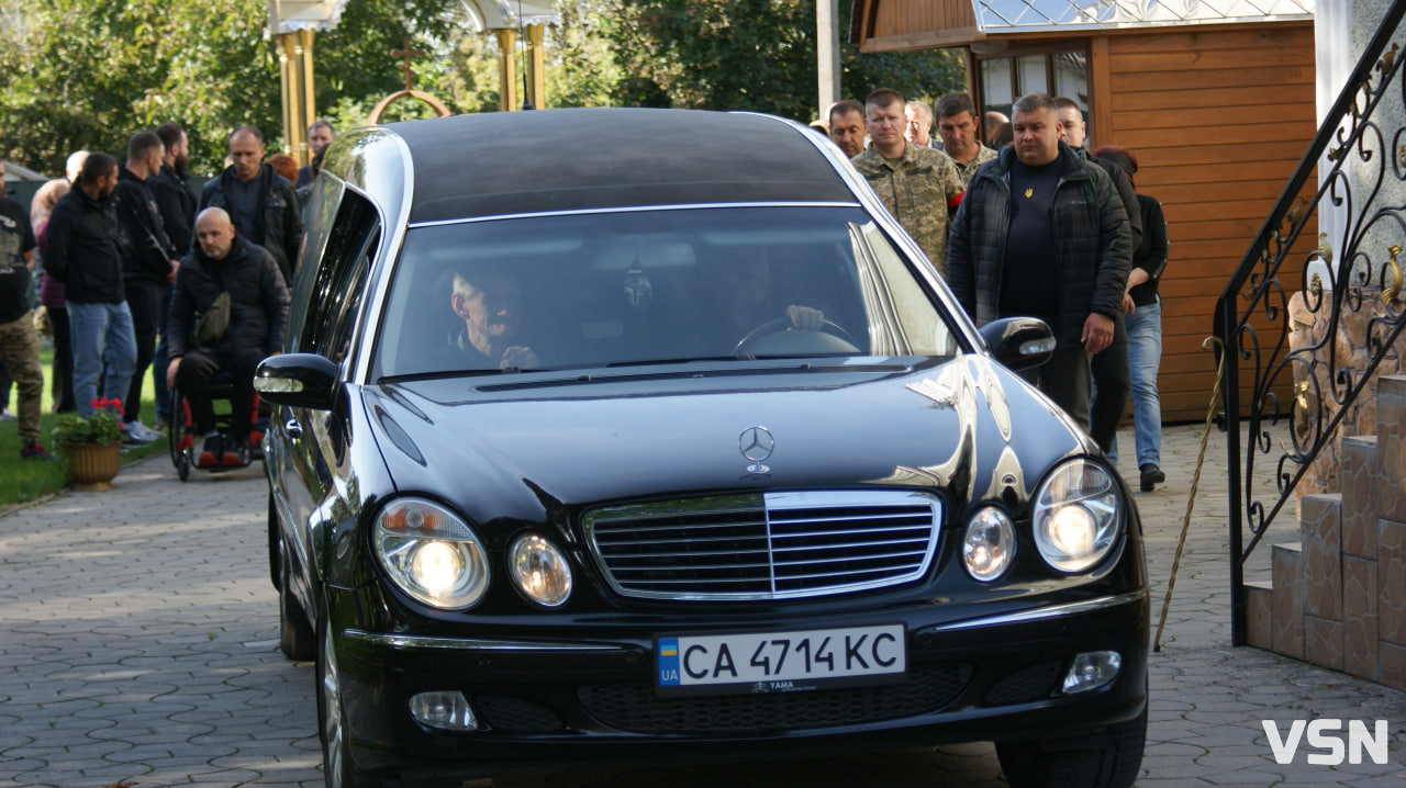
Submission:
M 979 326 L 1019 315 L 1050 324 L 1053 357 L 1021 375 L 1112 459 L 1132 395 L 1139 486 L 1164 482 L 1157 282 L 1167 223 L 1161 205 L 1133 188 L 1137 157 L 1085 150 L 1078 103 L 1043 93 L 1017 100 L 1007 118 L 979 115 L 965 93 L 934 108 L 882 88 L 863 104 L 834 104 L 815 128 Z

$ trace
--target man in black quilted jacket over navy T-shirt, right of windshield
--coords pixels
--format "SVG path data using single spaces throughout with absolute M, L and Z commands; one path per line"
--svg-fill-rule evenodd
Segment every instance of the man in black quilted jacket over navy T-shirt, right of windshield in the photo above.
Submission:
M 1015 142 L 981 164 L 952 221 L 948 284 L 979 326 L 1028 315 L 1054 329 L 1054 355 L 1022 371 L 1088 430 L 1090 357 L 1114 339 L 1132 265 L 1112 181 L 1059 138 L 1054 100 L 1015 103 Z

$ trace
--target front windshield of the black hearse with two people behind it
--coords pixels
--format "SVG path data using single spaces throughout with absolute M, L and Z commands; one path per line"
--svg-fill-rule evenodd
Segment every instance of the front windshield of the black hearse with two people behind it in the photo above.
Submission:
M 950 355 L 858 208 L 690 208 L 412 228 L 374 378 L 733 358 Z

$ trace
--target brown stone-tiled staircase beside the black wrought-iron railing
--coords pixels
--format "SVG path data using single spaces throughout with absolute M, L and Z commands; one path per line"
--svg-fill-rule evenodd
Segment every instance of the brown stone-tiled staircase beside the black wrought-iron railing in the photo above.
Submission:
M 1305 494 L 1299 542 L 1246 583 L 1251 646 L 1406 690 L 1406 375 L 1376 381 L 1376 435 L 1343 438 L 1340 493 Z

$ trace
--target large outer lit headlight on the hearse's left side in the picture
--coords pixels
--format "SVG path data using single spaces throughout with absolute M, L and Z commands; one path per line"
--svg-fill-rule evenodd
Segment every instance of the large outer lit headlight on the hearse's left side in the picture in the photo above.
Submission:
M 387 504 L 375 520 L 375 555 L 396 586 L 429 605 L 463 610 L 488 590 L 488 560 L 478 537 L 433 501 Z

